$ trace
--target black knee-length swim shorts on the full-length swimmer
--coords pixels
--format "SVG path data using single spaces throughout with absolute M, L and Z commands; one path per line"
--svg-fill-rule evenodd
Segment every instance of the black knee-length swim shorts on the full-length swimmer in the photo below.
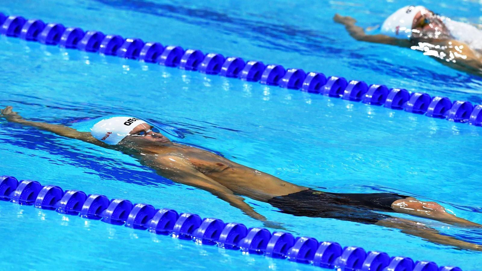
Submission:
M 299 217 L 325 217 L 374 224 L 394 212 L 391 204 L 408 196 L 392 193 L 329 193 L 312 189 L 270 199 L 282 213 Z

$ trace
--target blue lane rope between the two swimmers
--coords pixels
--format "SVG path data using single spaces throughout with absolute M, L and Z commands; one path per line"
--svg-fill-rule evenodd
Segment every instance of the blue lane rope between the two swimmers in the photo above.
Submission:
M 124 39 L 119 35 L 104 35 L 99 31 L 84 32 L 78 27 L 66 28 L 62 24 L 27 20 L 22 16 L 6 16 L 0 13 L 0 25 L 0 34 L 27 41 L 116 55 L 185 70 L 198 70 L 244 81 L 259 81 L 262 84 L 482 126 L 482 105 L 474 106 L 468 101 L 452 102 L 447 97 L 410 93 L 402 88 L 388 89 L 385 85 L 368 85 L 363 81 L 347 81 L 336 76 L 327 78 L 319 72 L 305 73 L 303 69 L 285 69 L 281 65 L 265 65 L 260 61 L 245 62 L 241 57 L 204 54 L 200 50 L 184 50 L 179 46 L 164 47 L 158 42 Z

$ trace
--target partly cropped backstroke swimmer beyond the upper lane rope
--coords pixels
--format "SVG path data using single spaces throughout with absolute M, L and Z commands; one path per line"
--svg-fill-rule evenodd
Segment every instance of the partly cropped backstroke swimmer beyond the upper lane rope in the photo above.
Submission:
M 434 14 L 423 6 L 405 6 L 388 16 L 381 27 L 355 26 L 352 17 L 335 14 L 357 41 L 369 41 L 420 50 L 452 68 L 482 77 L 482 30 Z

